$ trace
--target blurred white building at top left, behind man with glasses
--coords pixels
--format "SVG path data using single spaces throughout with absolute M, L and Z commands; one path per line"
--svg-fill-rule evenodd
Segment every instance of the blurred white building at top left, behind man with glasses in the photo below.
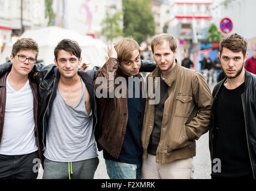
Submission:
M 21 34 L 22 26 L 24 30 L 46 26 L 44 16 L 44 0 L 0 0 L 0 53 Z

